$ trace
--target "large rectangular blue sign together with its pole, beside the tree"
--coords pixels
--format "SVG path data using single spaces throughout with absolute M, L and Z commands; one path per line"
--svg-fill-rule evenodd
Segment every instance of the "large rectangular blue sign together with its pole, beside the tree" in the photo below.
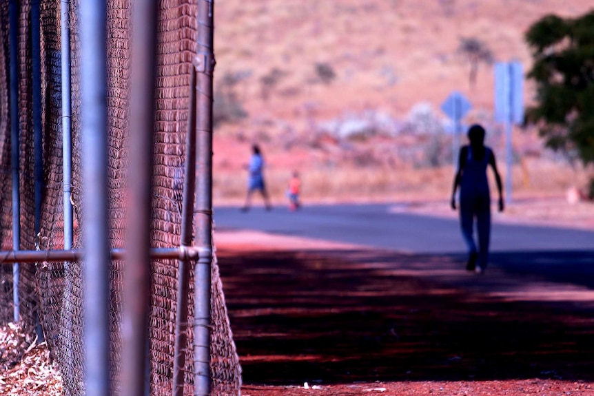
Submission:
M 495 64 L 495 121 L 505 125 L 506 203 L 511 202 L 513 152 L 511 132 L 513 124 L 524 122 L 524 74 L 522 63 Z

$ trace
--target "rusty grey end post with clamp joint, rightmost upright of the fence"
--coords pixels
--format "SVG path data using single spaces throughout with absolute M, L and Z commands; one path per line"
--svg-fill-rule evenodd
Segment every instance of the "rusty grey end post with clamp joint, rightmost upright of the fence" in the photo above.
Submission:
M 214 0 L 198 2 L 196 244 L 207 249 L 194 270 L 194 395 L 209 395 L 210 271 L 212 265 L 212 102 L 214 72 Z

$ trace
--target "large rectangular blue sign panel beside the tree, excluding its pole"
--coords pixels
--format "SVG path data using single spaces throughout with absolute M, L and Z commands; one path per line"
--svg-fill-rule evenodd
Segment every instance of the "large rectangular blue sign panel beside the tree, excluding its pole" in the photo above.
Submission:
M 495 63 L 495 121 L 524 122 L 524 73 L 520 62 Z

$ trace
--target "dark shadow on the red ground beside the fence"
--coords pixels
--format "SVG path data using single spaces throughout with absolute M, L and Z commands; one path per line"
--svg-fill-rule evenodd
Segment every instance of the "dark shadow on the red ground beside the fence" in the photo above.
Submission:
M 452 257 L 220 251 L 219 262 L 247 384 L 594 380 L 589 305 L 468 291 L 489 276 Z

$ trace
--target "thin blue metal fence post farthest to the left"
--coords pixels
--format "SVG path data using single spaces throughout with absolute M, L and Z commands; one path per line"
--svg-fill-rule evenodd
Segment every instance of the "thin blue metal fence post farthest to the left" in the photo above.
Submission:
M 12 249 L 20 249 L 21 240 L 21 174 L 19 128 L 19 2 L 8 3 L 10 19 L 10 166 L 12 168 Z M 19 322 L 19 263 L 12 264 L 12 303 L 14 322 Z

